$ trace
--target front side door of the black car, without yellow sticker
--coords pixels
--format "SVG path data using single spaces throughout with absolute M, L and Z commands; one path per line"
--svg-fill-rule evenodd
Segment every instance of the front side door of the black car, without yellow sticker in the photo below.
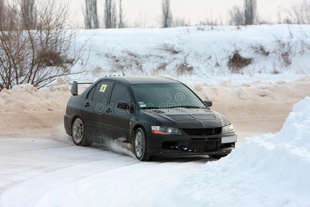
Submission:
M 130 112 L 127 109 L 117 108 L 119 102 L 130 104 L 132 100 L 126 86 L 115 82 L 105 114 L 105 135 L 112 139 L 122 137 L 127 139 L 127 136 L 130 134 Z

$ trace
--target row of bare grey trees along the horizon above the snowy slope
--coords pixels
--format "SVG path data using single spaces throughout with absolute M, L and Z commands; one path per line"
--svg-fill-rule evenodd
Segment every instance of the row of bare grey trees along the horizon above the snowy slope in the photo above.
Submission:
M 21 7 L 25 12 L 23 15 L 22 28 L 35 28 L 37 19 L 37 8 L 35 6 L 37 0 L 21 0 Z M 117 6 L 116 8 L 116 1 Z M 104 11 L 102 21 L 99 18 L 98 1 L 85 0 L 83 8 L 84 25 L 86 29 L 96 28 L 126 28 L 127 25 L 124 14 L 122 0 L 104 0 Z M 0 18 L 2 15 L 4 0 L 0 0 Z M 310 0 L 303 0 L 300 3 L 292 6 L 291 10 L 287 11 L 287 17 L 282 19 L 280 12 L 278 14 L 278 23 L 310 23 Z M 262 21 L 258 16 L 257 0 L 243 0 L 243 6 L 233 6 L 227 11 L 229 17 L 229 24 L 234 26 L 254 25 L 258 23 L 268 23 Z M 2 18 L 1 18 L 2 19 Z M 218 25 L 218 21 L 200 22 L 202 25 L 208 25 L 210 22 L 212 26 Z M 220 21 L 222 23 L 222 21 Z M 176 26 L 190 26 L 189 21 L 185 17 L 173 17 L 170 0 L 162 0 L 161 2 L 161 28 L 170 28 Z

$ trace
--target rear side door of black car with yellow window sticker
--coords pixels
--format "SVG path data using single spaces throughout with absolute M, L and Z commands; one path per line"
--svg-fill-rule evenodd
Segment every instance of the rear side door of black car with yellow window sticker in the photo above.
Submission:
M 110 98 L 113 83 L 101 81 L 90 90 L 83 104 L 83 121 L 85 122 L 88 135 L 93 139 L 103 136 L 103 119 L 107 101 Z

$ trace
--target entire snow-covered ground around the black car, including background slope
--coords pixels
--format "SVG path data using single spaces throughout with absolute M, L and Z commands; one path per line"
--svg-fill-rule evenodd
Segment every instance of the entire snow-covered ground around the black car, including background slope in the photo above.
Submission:
M 237 148 L 220 160 L 140 162 L 117 141 L 74 146 L 63 128 L 70 84 L 16 86 L 0 92 L 1 207 L 310 206 L 310 26 L 78 34 L 77 45 L 92 48 L 86 72 L 65 81 L 94 81 L 121 69 L 179 79 L 229 118 Z M 253 61 L 231 72 L 236 49 Z

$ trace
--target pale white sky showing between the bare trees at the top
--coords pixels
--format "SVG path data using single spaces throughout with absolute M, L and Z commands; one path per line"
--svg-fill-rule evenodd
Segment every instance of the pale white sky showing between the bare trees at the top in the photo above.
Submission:
M 72 20 L 83 26 L 83 4 L 85 0 L 70 1 Z M 99 3 L 99 15 L 101 23 L 103 20 L 103 2 Z M 138 23 L 141 26 L 159 26 L 161 17 L 161 0 L 122 0 L 125 19 L 131 26 Z M 278 11 L 282 10 L 282 18 L 286 10 L 303 0 L 257 0 L 258 14 L 262 19 L 278 22 Z M 118 2 L 118 0 L 116 0 Z M 243 5 L 243 0 L 171 0 L 173 17 L 184 17 L 193 24 L 200 21 L 218 20 L 227 22 L 227 10 L 232 6 Z M 280 9 L 281 8 L 281 9 Z

